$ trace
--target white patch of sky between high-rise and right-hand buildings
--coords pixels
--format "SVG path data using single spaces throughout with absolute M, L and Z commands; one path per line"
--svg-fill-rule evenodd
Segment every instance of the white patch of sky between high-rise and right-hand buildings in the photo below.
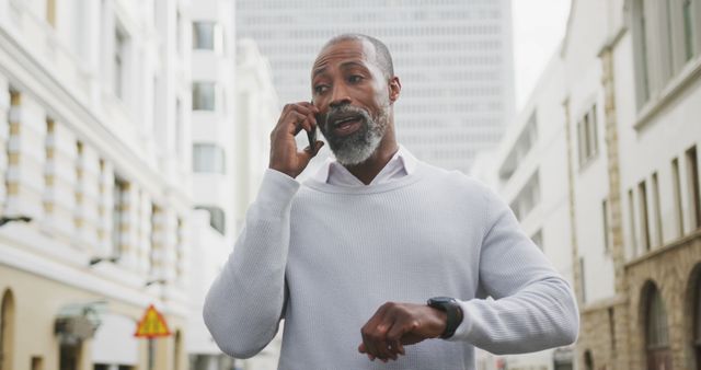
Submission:
M 571 0 L 512 0 L 516 111 L 565 36 Z

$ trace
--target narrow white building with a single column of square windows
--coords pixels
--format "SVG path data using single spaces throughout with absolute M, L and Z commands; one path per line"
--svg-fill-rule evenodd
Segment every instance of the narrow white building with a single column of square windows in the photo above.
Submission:
M 193 370 L 231 369 L 233 359 L 219 350 L 204 325 L 202 310 L 209 286 L 226 263 L 238 233 L 235 173 L 235 38 L 233 2 L 198 1 L 192 19 L 193 258 L 192 335 L 187 338 Z M 232 333 L 235 335 L 235 333 Z

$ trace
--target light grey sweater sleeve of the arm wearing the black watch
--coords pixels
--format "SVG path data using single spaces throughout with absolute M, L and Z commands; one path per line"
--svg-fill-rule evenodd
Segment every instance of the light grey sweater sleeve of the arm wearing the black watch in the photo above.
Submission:
M 579 313 L 570 285 L 521 231 L 510 208 L 489 192 L 480 256 L 480 289 L 491 299 L 461 301 L 463 321 L 451 340 L 496 355 L 574 343 Z

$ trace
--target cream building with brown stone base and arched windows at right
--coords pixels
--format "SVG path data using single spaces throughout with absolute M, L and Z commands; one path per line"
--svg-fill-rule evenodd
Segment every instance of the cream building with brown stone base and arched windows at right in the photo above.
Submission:
M 536 162 L 561 174 L 541 173 L 541 194 L 567 194 L 574 366 L 701 369 L 701 3 L 575 0 L 556 59 L 544 73 L 562 81 L 548 100 L 563 137 L 544 144 L 564 161 Z M 496 158 L 493 171 L 508 163 Z

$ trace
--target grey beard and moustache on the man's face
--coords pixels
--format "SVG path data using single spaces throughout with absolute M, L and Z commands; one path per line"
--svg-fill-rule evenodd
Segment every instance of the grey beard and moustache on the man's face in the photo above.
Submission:
M 327 127 L 329 116 L 333 114 L 354 113 L 361 116 L 361 127 L 349 136 L 337 137 L 332 127 Z M 371 117 L 366 111 L 350 105 L 343 105 L 330 109 L 324 116 L 321 132 L 329 142 L 329 148 L 343 165 L 356 165 L 367 161 L 380 146 L 389 122 L 389 104 L 380 108 L 377 117 Z

